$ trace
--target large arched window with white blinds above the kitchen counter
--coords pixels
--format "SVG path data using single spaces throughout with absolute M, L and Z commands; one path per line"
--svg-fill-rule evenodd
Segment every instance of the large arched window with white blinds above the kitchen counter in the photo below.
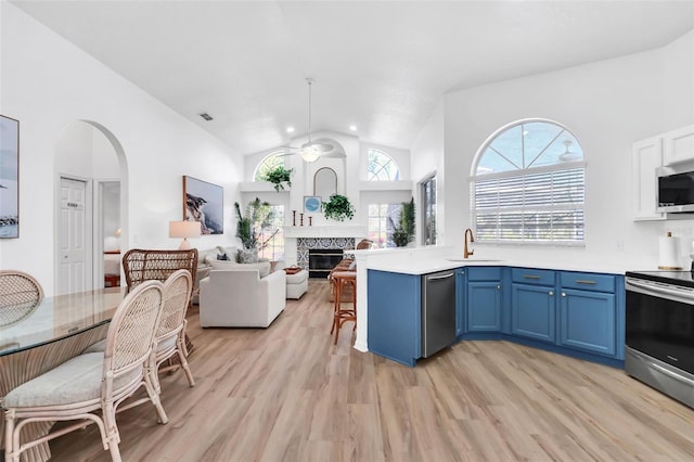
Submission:
M 473 162 L 475 240 L 582 244 L 584 177 L 581 145 L 560 124 L 528 119 L 501 128 Z

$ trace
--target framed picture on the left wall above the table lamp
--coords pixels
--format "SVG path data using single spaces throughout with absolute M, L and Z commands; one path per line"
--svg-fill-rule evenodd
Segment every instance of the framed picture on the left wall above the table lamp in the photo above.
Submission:
M 203 234 L 223 234 L 224 189 L 183 176 L 183 219 L 200 221 Z

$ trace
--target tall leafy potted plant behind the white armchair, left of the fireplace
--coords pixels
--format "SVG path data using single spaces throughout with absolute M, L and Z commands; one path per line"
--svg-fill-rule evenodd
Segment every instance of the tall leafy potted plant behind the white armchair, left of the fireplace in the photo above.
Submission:
M 272 235 L 262 241 L 262 229 L 272 222 L 272 208 L 268 202 L 261 202 L 258 197 L 248 203 L 243 215 L 237 202 L 234 202 L 234 208 L 236 209 L 236 238 L 241 240 L 243 245 L 236 260 L 243 264 L 256 262 L 258 261 L 258 251 L 267 247 L 269 241 L 279 231 L 275 230 Z

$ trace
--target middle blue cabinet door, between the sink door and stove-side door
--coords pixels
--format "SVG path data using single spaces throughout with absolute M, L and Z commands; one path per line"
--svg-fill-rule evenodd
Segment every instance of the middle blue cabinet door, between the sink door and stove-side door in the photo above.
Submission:
M 511 291 L 511 333 L 554 343 L 554 287 L 512 284 Z

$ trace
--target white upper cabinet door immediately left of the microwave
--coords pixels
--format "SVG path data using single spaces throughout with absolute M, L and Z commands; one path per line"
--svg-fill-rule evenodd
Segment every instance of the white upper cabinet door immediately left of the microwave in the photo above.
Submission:
M 631 185 L 633 219 L 664 220 L 665 214 L 656 211 L 655 169 L 663 166 L 663 137 L 637 141 L 631 149 Z

